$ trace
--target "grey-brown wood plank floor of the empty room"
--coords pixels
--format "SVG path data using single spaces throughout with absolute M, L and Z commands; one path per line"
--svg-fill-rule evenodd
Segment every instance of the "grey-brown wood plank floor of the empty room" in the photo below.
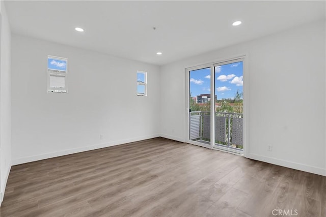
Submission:
M 326 177 L 155 138 L 13 166 L 0 212 L 326 216 Z

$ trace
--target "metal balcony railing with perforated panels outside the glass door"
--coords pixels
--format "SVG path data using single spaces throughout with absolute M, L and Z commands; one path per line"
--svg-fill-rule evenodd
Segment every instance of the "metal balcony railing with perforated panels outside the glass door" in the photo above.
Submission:
M 210 112 L 190 112 L 190 140 L 210 141 Z M 243 114 L 215 112 L 215 145 L 243 149 Z

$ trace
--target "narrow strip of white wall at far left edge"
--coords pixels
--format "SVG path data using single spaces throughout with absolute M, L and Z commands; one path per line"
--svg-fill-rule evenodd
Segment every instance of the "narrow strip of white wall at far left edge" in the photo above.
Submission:
M 0 189 L 3 200 L 11 168 L 11 82 L 10 26 L 4 2 L 1 1 L 1 71 L 0 71 Z

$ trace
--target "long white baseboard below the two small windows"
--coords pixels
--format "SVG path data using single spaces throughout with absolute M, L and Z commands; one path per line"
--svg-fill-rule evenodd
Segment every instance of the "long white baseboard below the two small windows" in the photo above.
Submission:
M 83 151 L 90 151 L 90 150 L 99 149 L 99 148 L 106 148 L 106 147 L 115 146 L 115 145 L 122 145 L 125 143 L 137 142 L 137 141 L 152 139 L 152 138 L 156 138 L 156 137 L 160 137 L 160 134 L 147 135 L 147 136 L 143 136 L 143 137 L 137 137 L 137 138 L 113 141 L 113 142 L 109 142 L 109 143 L 101 143 L 101 144 L 96 144 L 96 145 L 67 149 L 67 150 L 63 150 L 63 151 L 57 151 L 57 152 L 33 155 L 33 156 L 28 156 L 28 157 L 23 157 L 23 158 L 17 158 L 17 159 L 12 159 L 12 165 L 25 164 L 26 162 L 44 160 L 44 159 L 48 159 L 48 158 L 52 158 L 52 157 L 59 157 L 59 156 L 67 155 L 67 154 L 74 154 L 74 153 L 83 152 Z

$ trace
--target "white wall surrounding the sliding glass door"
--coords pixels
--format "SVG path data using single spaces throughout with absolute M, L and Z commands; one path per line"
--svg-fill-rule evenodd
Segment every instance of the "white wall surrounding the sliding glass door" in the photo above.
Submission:
M 325 21 L 161 67 L 161 104 L 173 105 L 162 111 L 162 135 L 185 141 L 185 68 L 243 53 L 249 53 L 247 157 L 326 175 Z

